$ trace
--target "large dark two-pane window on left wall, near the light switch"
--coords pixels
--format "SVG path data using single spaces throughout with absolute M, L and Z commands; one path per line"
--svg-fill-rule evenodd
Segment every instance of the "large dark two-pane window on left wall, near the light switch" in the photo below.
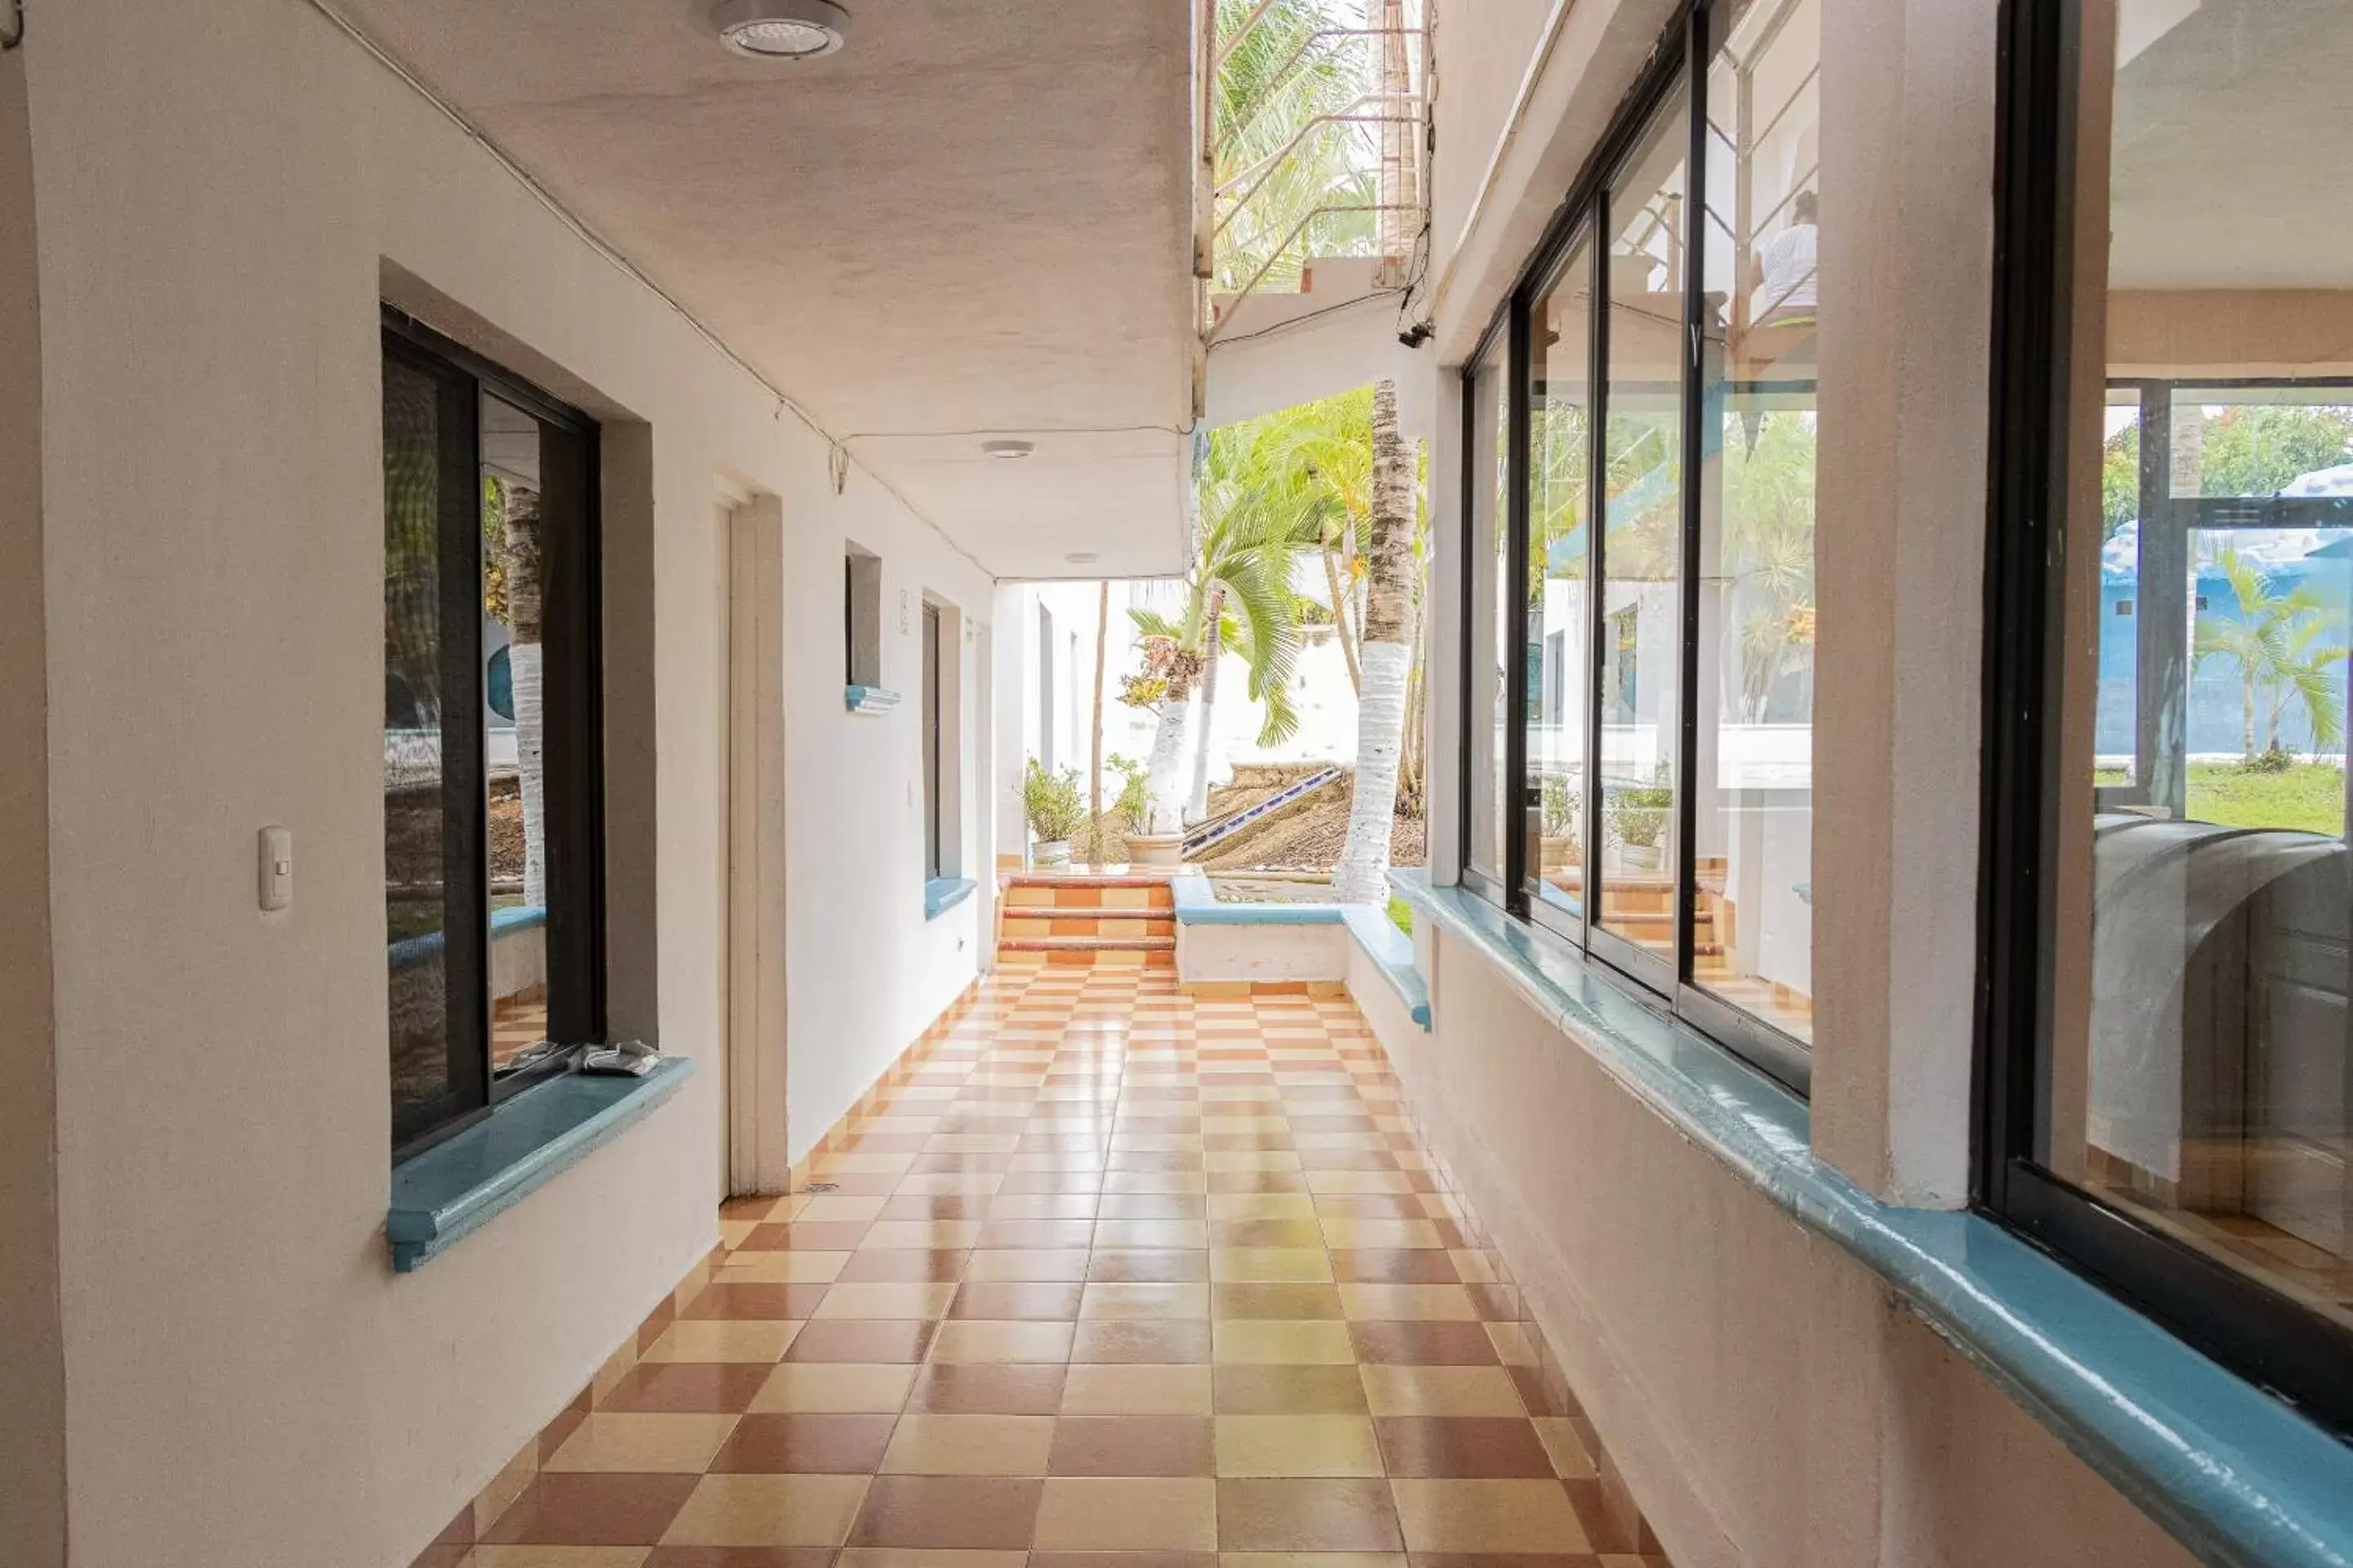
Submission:
M 395 1157 L 605 1030 L 595 425 L 384 329 Z

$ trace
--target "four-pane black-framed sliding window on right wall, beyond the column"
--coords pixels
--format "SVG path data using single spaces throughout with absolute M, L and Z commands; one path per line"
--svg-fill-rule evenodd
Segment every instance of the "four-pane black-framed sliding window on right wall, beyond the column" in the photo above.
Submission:
M 1800 1088 L 1819 40 L 1692 7 L 1464 374 L 1464 882 Z

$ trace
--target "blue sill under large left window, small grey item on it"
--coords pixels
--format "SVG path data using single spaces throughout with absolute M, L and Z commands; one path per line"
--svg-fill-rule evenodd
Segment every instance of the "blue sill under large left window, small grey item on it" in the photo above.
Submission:
M 464 1133 L 393 1168 L 384 1237 L 407 1274 L 546 1187 L 678 1093 L 694 1063 L 673 1056 L 642 1079 L 572 1072 L 536 1084 Z

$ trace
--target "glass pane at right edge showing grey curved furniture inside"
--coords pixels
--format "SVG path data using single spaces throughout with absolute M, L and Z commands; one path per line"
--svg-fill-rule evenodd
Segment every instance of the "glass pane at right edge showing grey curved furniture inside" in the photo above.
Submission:
M 2353 219 L 2297 200 L 2280 158 L 2341 103 L 2353 9 L 2125 0 L 2115 21 L 2089 308 L 2139 414 L 2075 421 L 2068 454 L 2071 538 L 2104 550 L 2068 555 L 2066 646 L 2099 663 L 2066 665 L 2057 717 L 2075 959 L 2038 1152 L 2353 1328 L 2353 367 L 2325 348 Z

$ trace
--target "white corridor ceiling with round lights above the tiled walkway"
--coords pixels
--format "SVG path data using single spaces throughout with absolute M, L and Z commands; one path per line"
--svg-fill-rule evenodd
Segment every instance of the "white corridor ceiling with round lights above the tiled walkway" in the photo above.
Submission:
M 807 63 L 704 0 L 339 2 L 993 574 L 1179 569 L 1188 0 L 849 0 Z

